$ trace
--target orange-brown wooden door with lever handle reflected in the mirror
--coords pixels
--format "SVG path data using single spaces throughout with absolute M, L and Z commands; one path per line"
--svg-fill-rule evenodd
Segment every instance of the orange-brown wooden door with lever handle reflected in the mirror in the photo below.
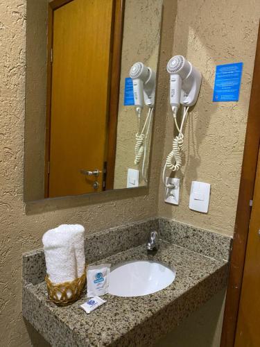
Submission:
M 113 0 L 66 1 L 53 9 L 46 197 L 102 190 L 102 174 L 80 170 L 103 171 L 106 161 L 112 18 Z

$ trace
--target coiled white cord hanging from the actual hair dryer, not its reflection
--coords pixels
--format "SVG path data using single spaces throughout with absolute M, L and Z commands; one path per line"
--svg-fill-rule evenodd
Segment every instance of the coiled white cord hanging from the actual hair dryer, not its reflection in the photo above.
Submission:
M 173 112 L 173 118 L 174 118 L 175 126 L 176 126 L 177 130 L 179 131 L 179 134 L 177 136 L 175 136 L 173 139 L 173 149 L 170 153 L 168 153 L 167 158 L 166 158 L 166 163 L 164 165 L 162 180 L 163 180 L 163 183 L 166 187 L 171 186 L 171 185 L 166 184 L 166 180 L 165 180 L 166 168 L 170 169 L 171 171 L 177 171 L 182 167 L 182 150 L 183 150 L 183 146 L 184 146 L 184 144 L 183 144 L 184 135 L 182 133 L 182 128 L 184 126 L 184 121 L 186 119 L 188 110 L 189 110 L 189 107 L 184 107 L 184 112 L 182 115 L 182 123 L 181 123 L 180 128 L 177 124 L 176 112 Z

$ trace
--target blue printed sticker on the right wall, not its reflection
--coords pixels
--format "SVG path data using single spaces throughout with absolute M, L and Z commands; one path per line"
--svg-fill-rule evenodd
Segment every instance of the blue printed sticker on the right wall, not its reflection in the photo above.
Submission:
M 239 101 L 243 62 L 217 65 L 213 101 Z

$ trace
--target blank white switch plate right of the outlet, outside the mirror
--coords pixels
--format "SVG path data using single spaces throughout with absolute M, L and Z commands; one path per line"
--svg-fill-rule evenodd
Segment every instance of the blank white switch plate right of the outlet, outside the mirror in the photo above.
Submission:
M 191 182 L 191 195 L 189 197 L 189 208 L 194 211 L 207 213 L 209 210 L 209 183 Z

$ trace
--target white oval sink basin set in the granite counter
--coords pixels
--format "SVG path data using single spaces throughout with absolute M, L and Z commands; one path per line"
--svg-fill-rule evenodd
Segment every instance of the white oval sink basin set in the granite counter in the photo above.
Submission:
M 175 279 L 175 270 L 159 262 L 135 260 L 112 268 L 108 293 L 115 296 L 144 296 L 162 290 Z

